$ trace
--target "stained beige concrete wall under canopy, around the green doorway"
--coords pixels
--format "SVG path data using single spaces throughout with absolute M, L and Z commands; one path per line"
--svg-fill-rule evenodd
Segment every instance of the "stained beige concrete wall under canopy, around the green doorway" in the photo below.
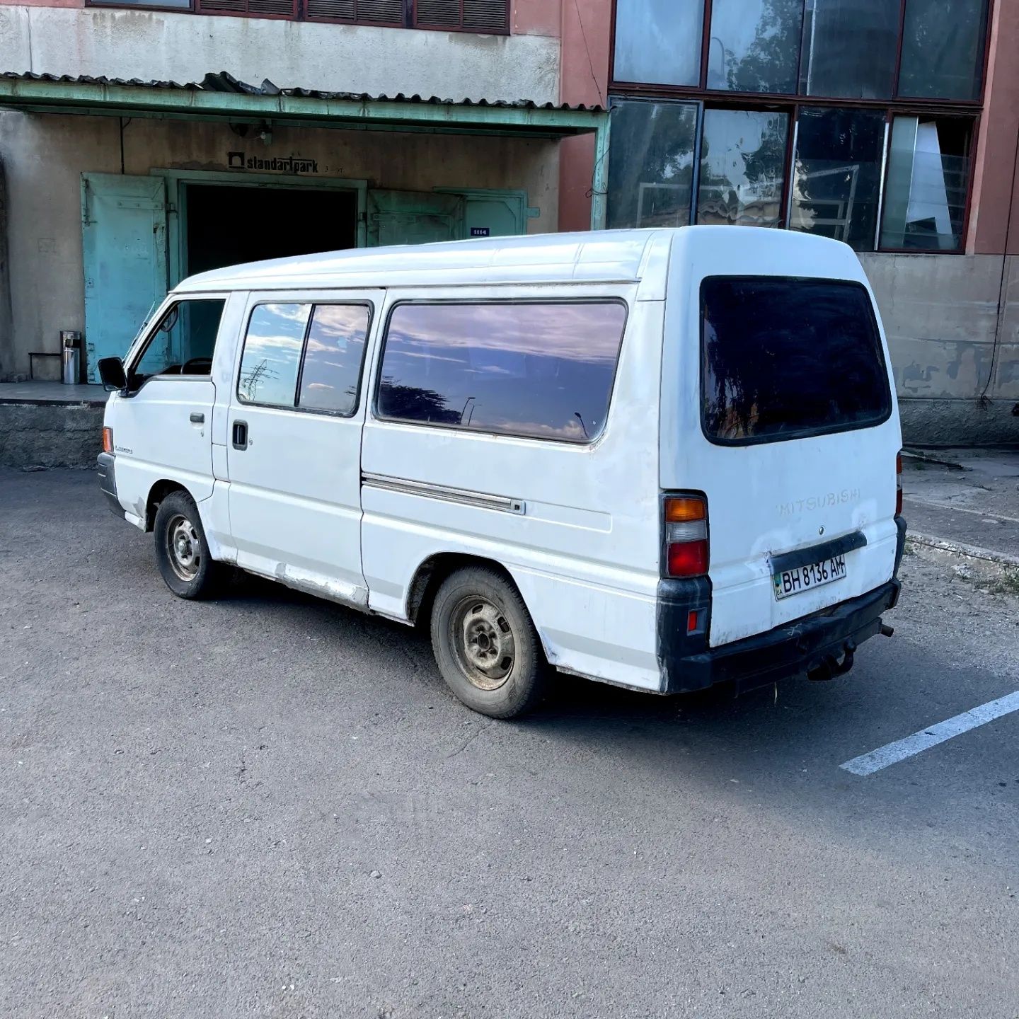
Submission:
M 123 131 L 124 171 L 227 169 L 239 140 L 226 124 L 136 118 Z M 318 178 L 345 177 L 408 191 L 433 187 L 526 190 L 540 215 L 534 232 L 555 229 L 555 142 L 453 135 L 274 127 L 263 158 L 318 160 Z M 58 351 L 61 329 L 84 329 L 81 174 L 120 172 L 116 117 L 0 113 L 0 160 L 6 166 L 12 341 L 0 341 L 2 379 L 29 372 L 30 351 Z M 238 172 L 238 177 L 244 172 Z M 281 175 L 300 183 L 300 177 Z

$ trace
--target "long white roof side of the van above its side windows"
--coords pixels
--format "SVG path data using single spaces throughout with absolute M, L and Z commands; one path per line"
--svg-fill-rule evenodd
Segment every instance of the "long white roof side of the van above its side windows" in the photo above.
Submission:
M 682 227 L 680 229 L 696 229 Z M 442 283 L 636 282 L 652 254 L 667 264 L 680 229 L 598 230 L 485 237 L 299 255 L 214 269 L 177 292 Z M 453 277 L 452 279 L 450 277 Z

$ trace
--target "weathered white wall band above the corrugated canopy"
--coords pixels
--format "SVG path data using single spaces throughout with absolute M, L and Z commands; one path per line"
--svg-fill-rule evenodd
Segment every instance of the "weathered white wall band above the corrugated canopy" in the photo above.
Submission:
M 557 102 L 549 36 L 372 29 L 96 7 L 0 6 L 0 71 L 198 82 L 226 70 L 371 95 Z

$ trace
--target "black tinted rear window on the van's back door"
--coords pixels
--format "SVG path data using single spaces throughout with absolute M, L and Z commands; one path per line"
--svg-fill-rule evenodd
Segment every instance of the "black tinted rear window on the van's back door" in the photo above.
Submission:
M 780 442 L 892 414 L 877 321 L 859 283 L 709 277 L 701 342 L 701 421 L 712 442 Z

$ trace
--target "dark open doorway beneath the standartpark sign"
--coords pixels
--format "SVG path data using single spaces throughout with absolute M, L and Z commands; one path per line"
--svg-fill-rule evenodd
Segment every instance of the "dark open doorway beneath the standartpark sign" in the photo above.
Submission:
M 187 275 L 357 246 L 356 192 L 185 186 Z

